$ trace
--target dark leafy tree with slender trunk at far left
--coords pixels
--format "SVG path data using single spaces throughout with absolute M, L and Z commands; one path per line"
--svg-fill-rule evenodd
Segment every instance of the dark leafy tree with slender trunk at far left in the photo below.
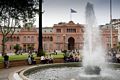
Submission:
M 5 54 L 7 36 L 12 37 L 20 21 L 27 22 L 38 13 L 39 0 L 0 0 L 0 31 L 2 33 L 2 55 Z

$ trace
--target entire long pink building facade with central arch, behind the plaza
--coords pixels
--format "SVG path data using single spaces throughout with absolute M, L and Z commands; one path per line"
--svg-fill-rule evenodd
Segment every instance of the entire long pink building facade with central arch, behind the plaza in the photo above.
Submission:
M 100 28 L 102 42 L 105 48 L 110 48 L 110 29 Z M 116 47 L 118 42 L 118 31 L 113 32 L 113 47 Z M 68 23 L 54 24 L 53 27 L 42 28 L 43 49 L 45 51 L 54 50 L 82 50 L 84 45 L 84 25 L 75 24 L 73 21 Z M 8 35 L 9 38 L 9 35 Z M 14 52 L 14 46 L 19 44 L 22 50 L 27 51 L 28 47 L 34 50 L 38 49 L 38 28 L 22 27 L 16 28 L 12 38 L 6 42 L 6 51 Z M 0 33 L 0 52 L 2 51 L 2 34 Z

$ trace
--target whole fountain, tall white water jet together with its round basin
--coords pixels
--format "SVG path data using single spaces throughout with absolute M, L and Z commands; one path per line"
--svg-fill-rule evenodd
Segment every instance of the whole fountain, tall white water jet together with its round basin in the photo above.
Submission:
M 23 80 L 120 80 L 120 64 L 108 64 L 93 5 L 86 6 L 83 62 L 38 65 L 20 73 Z M 83 67 L 81 67 L 83 66 Z

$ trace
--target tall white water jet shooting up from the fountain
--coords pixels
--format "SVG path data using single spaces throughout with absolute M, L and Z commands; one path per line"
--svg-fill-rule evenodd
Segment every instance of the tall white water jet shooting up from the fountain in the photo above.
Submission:
M 84 33 L 83 66 L 86 74 L 100 74 L 101 65 L 105 63 L 99 27 L 96 25 L 93 5 L 86 6 L 86 27 Z

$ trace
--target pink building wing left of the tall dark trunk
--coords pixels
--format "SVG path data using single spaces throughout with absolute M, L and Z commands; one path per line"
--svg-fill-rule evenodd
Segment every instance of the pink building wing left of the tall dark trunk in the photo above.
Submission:
M 0 52 L 2 51 L 2 33 L 0 33 Z M 14 46 L 19 44 L 23 50 L 28 50 L 28 47 L 38 48 L 38 32 L 35 27 L 16 28 L 12 38 L 8 37 L 6 42 L 6 52 L 14 52 Z

